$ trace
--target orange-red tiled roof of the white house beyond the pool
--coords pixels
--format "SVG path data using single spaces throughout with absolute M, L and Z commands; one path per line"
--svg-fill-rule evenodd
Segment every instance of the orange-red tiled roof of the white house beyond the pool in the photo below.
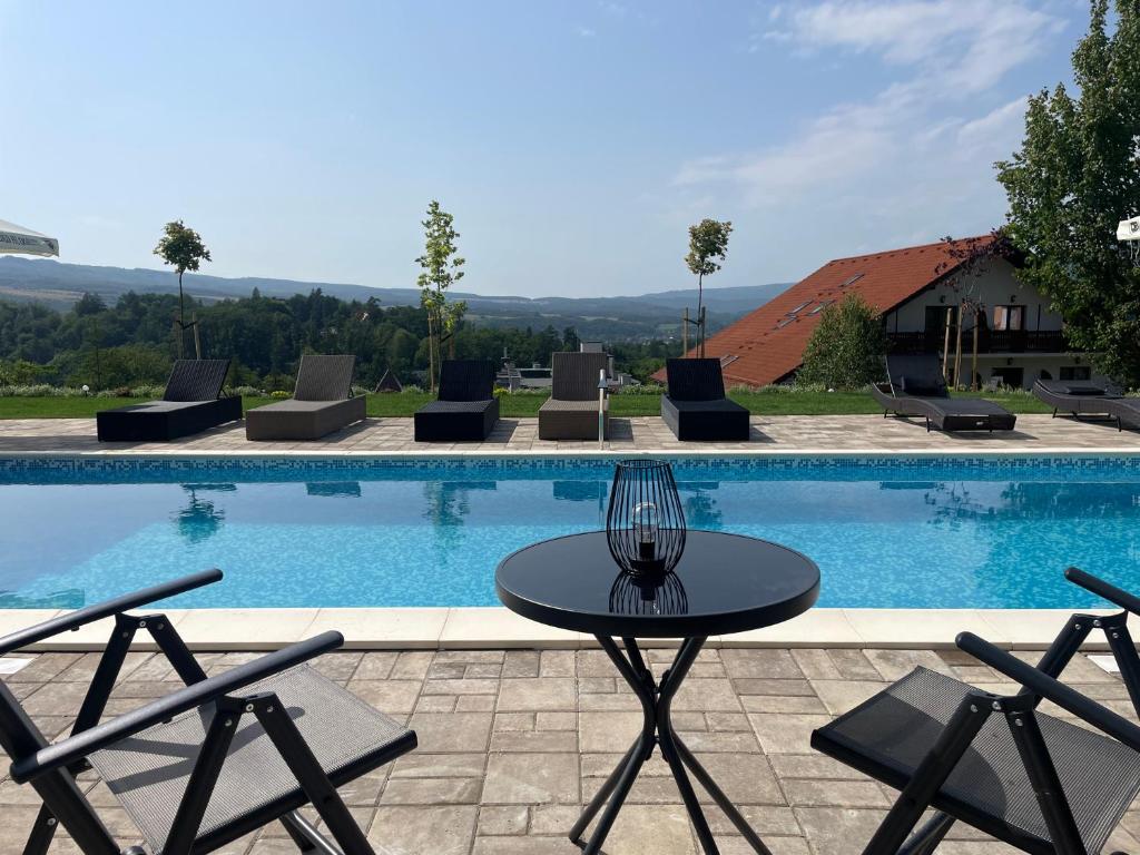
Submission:
M 807 340 L 820 323 L 822 307 L 850 293 L 860 294 L 880 314 L 894 309 L 961 263 L 951 246 L 939 242 L 870 255 L 829 261 L 756 311 L 725 327 L 705 342 L 705 355 L 717 357 L 726 386 L 777 383 L 803 361 Z M 946 267 L 936 270 L 939 264 Z M 689 351 L 694 356 L 695 351 Z M 665 382 L 665 369 L 653 375 Z

